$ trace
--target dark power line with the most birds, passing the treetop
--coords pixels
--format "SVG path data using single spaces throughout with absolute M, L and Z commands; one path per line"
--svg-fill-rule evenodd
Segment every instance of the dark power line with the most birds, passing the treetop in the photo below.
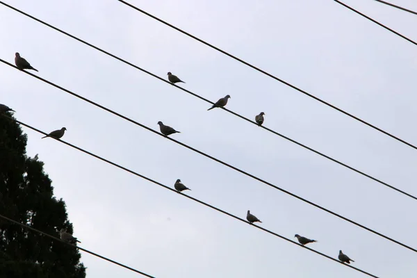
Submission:
M 19 120 L 16 120 L 16 119 L 14 119 L 13 117 L 8 117 L 8 116 L 6 116 L 6 115 L 3 115 L 3 117 L 8 118 L 9 120 L 13 120 L 14 122 L 17 122 L 17 123 L 21 124 L 22 126 L 26 126 L 28 129 L 32 129 L 33 131 L 37 131 L 38 133 L 42 133 L 43 135 L 47 135 L 47 133 L 45 133 L 44 131 L 40 131 L 39 129 L 36 129 L 36 128 L 35 128 L 35 127 L 33 127 L 33 126 L 30 126 L 30 125 L 28 125 L 28 124 L 25 124 L 24 122 L 20 122 Z M 130 170 L 130 169 L 128 169 L 128 168 L 126 168 L 126 167 L 124 167 L 124 166 L 122 166 L 122 165 L 119 165 L 119 164 L 117 164 L 117 163 L 114 163 L 113 161 L 109 161 L 109 160 L 107 160 L 106 158 L 103 158 L 103 157 L 101 157 L 101 156 L 98 156 L 97 154 L 93 154 L 93 153 L 91 153 L 91 152 L 88 152 L 87 150 L 82 149 L 81 147 L 77 147 L 76 145 L 72 145 L 72 144 L 71 144 L 71 143 L 69 143 L 69 142 L 65 142 L 65 141 L 63 141 L 63 140 L 56 139 L 56 138 L 54 138 L 54 139 L 55 139 L 55 140 L 57 140 L 57 141 L 59 141 L 59 142 L 62 142 L 63 144 L 65 144 L 65 145 L 67 145 L 67 146 L 70 146 L 70 147 L 72 147 L 72 148 L 74 148 L 74 149 L 76 149 L 76 150 L 78 150 L 78 151 L 80 151 L 80 152 L 83 152 L 84 154 L 88 154 L 88 155 L 90 155 L 90 156 L 93 156 L 93 157 L 95 157 L 95 158 L 97 158 L 97 159 L 99 159 L 99 160 L 101 160 L 101 161 L 104 161 L 104 162 L 106 162 L 106 163 L 108 163 L 108 164 L 110 164 L 110 165 L 113 165 L 113 166 L 115 166 L 115 167 L 117 167 L 117 168 L 120 168 L 120 169 L 122 169 L 122 170 L 124 170 L 124 171 L 126 171 L 126 172 L 129 172 L 129 173 L 131 173 L 131 174 L 134 174 L 134 175 L 135 175 L 135 176 L 137 176 L 137 177 L 140 177 L 140 178 L 142 178 L 142 179 L 146 179 L 147 181 L 150 181 L 150 182 L 152 182 L 152 183 L 155 183 L 156 185 L 161 186 L 161 187 L 163 187 L 163 188 L 165 188 L 165 189 L 167 189 L 167 190 L 170 190 L 170 191 L 172 191 L 173 193 L 176 193 L 176 194 L 177 194 L 177 190 L 174 190 L 173 188 L 170 188 L 169 186 L 165 186 L 163 183 L 160 183 L 160 182 L 158 182 L 158 181 L 155 181 L 154 179 L 150 179 L 149 177 L 145 177 L 144 175 L 139 174 L 138 172 L 135 172 L 135 171 L 133 171 L 133 170 Z M 211 204 L 208 204 L 208 203 L 206 203 L 206 202 L 203 202 L 203 201 L 201 201 L 201 200 L 199 200 L 199 199 L 196 199 L 196 198 L 194 198 L 194 197 L 190 197 L 189 195 L 185 195 L 185 194 L 183 194 L 183 193 L 179 193 L 179 194 L 181 194 L 183 197 L 187 197 L 188 199 L 192 199 L 193 201 L 195 201 L 195 202 L 197 202 L 197 203 L 199 203 L 199 204 L 203 204 L 204 206 L 208 206 L 209 208 L 212 208 L 212 209 L 214 209 L 215 211 L 218 211 L 218 212 L 220 212 L 220 213 L 223 213 L 223 214 L 225 214 L 225 215 L 228 215 L 228 216 L 230 216 L 231 218 L 234 218 L 234 219 L 236 219 L 236 220 L 240 220 L 240 222 L 245 222 L 245 223 L 247 223 L 247 224 L 250 224 L 250 222 L 247 222 L 247 221 L 246 221 L 246 220 L 244 220 L 243 218 L 240 218 L 240 217 L 238 217 L 238 216 L 236 216 L 236 215 L 234 215 L 234 214 L 232 214 L 232 213 L 228 213 L 227 211 L 223 211 L 222 209 L 220 209 L 220 208 L 218 208 L 218 207 L 215 207 L 215 206 L 212 206 Z M 0 215 L 0 216 L 1 216 L 1 215 Z M 15 222 L 15 221 L 13 221 L 13 222 Z M 16 223 L 18 223 L 18 222 L 16 222 Z M 22 225 L 24 225 L 24 224 L 22 224 Z M 295 241 L 293 241 L 293 240 L 291 240 L 291 239 L 289 239 L 289 238 L 286 238 L 286 237 L 284 237 L 284 236 L 281 236 L 281 235 L 279 235 L 279 234 L 277 234 L 277 233 L 275 233 L 275 232 L 273 232 L 273 231 L 270 231 L 270 230 L 268 230 L 268 229 L 265 229 L 265 228 L 263 228 L 263 227 L 260 227 L 260 226 L 258 226 L 258 225 L 256 225 L 256 224 L 251 224 L 251 226 L 256 227 L 256 228 L 258 228 L 258 229 L 261 229 L 262 231 L 265 231 L 265 232 L 267 232 L 268 234 L 272 234 L 272 235 L 274 235 L 274 236 L 277 236 L 277 237 L 279 237 L 279 238 L 281 238 L 281 239 L 284 239 L 284 240 L 286 240 L 286 241 L 288 241 L 288 242 L 290 242 L 290 243 L 293 243 L 293 244 L 295 244 L 295 245 L 298 245 L 298 246 L 300 246 L 300 247 L 303 247 L 303 248 L 305 248 L 305 249 L 307 249 L 307 250 L 310 250 L 311 252 L 314 252 L 314 253 L 316 253 L 316 254 L 320 254 L 321 256 L 325 256 L 327 259 L 331 259 L 332 261 L 336 261 L 337 263 L 341 263 L 340 261 L 338 261 L 338 260 L 336 260 L 336 259 L 332 258 L 331 256 L 328 256 L 328 255 L 326 255 L 326 254 L 324 254 L 324 253 L 321 253 L 321 252 L 318 252 L 318 251 L 316 251 L 316 250 L 313 250 L 313 249 L 311 249 L 311 248 L 309 248 L 309 247 L 307 247 L 307 246 L 302 246 L 302 245 L 299 245 L 299 244 L 295 243 Z M 33 228 L 31 228 L 31 227 L 28 227 L 28 228 L 33 229 Z M 35 229 L 33 229 L 33 230 L 35 230 Z M 42 232 L 41 232 L 41 233 L 42 233 Z M 42 234 L 44 234 L 44 233 L 42 233 Z M 78 247 L 78 248 L 79 248 L 79 247 Z M 80 249 L 81 249 L 81 248 L 80 248 Z M 81 250 L 82 250 L 82 249 L 81 249 Z M 357 270 L 357 271 L 359 271 L 359 272 L 362 272 L 363 274 L 369 275 L 370 277 L 376 277 L 376 278 L 378 278 L 377 276 L 372 275 L 372 274 L 370 274 L 369 272 L 366 272 L 366 271 L 360 270 L 359 268 L 355 268 L 355 267 L 354 267 L 354 266 L 352 266 L 352 265 L 347 265 L 347 264 L 345 264 L 345 263 L 341 263 L 341 264 L 346 265 L 346 266 L 348 266 L 348 267 L 350 267 L 350 268 L 353 268 L 354 270 Z

